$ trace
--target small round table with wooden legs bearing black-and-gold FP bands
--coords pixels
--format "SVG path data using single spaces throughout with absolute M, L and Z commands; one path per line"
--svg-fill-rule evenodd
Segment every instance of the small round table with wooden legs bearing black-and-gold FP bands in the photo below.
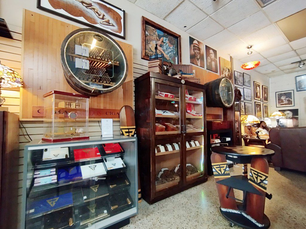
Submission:
M 211 164 L 216 180 L 220 200 L 220 212 L 234 224 L 242 228 L 266 229 L 270 220 L 264 214 L 267 194 L 269 165 L 267 156 L 274 151 L 251 146 L 215 146 L 211 147 Z M 230 176 L 227 161 L 244 164 L 243 175 Z M 251 163 L 250 176 L 247 174 L 247 164 Z M 243 191 L 243 199 L 235 198 L 233 189 Z M 242 203 L 242 204 L 241 204 Z

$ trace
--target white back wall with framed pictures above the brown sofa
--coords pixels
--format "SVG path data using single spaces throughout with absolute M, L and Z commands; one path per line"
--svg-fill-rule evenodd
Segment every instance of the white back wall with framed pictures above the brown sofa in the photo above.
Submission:
M 282 111 L 286 115 L 286 118 L 280 120 L 280 125 L 306 126 L 306 71 L 272 77 L 269 89 L 271 95 L 269 110 Z

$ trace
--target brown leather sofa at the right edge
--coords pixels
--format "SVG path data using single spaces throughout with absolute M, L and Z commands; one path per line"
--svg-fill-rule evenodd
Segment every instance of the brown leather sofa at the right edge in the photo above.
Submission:
M 274 169 L 293 169 L 306 172 L 306 127 L 272 128 L 271 143 L 267 148 L 275 152 L 272 156 Z

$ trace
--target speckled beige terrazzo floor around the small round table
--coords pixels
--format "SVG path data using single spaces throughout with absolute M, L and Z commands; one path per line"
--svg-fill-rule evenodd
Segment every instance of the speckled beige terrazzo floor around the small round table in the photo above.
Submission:
M 231 175 L 241 174 L 241 165 L 230 169 Z M 271 229 L 306 228 L 306 174 L 269 169 L 265 214 Z M 235 191 L 236 198 L 242 192 Z M 229 222 L 219 211 L 219 200 L 213 176 L 208 181 L 184 192 L 149 205 L 139 204 L 138 215 L 124 229 L 225 229 Z M 232 228 L 240 228 L 234 226 Z

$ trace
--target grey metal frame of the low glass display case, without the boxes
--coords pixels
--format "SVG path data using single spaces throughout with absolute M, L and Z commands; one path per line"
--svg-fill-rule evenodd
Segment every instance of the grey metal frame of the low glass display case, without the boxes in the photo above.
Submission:
M 124 144 L 126 142 L 131 142 L 129 148 L 125 148 Z M 104 143 L 120 143 L 122 148 L 125 150 L 124 152 L 124 161 L 127 165 L 128 169 L 125 171 L 126 176 L 130 180 L 130 188 L 129 194 L 132 196 L 133 200 L 133 207 L 131 209 L 127 209 L 121 213 L 116 215 L 110 216 L 104 220 L 98 221 L 93 223 L 91 226 L 86 228 L 88 229 L 100 229 L 106 228 L 113 224 L 117 224 L 122 220 L 126 220 L 131 216 L 134 216 L 138 213 L 138 162 L 137 162 L 137 138 L 136 137 L 127 137 L 127 136 L 114 136 L 113 138 L 103 138 L 100 137 L 91 137 L 89 140 L 82 140 L 82 141 L 71 141 L 71 142 L 59 142 L 59 143 L 46 143 L 42 142 L 41 140 L 34 140 L 31 143 L 25 145 L 24 148 L 24 169 L 23 169 L 23 188 L 22 188 L 22 208 L 21 208 L 21 229 L 25 229 L 25 221 L 26 221 L 26 202 L 28 195 L 33 186 L 30 186 L 30 182 L 32 183 L 32 179 L 34 179 L 34 169 L 31 168 L 31 151 L 32 150 L 40 150 L 45 148 L 56 148 L 56 147 L 77 147 L 77 146 L 88 146 L 88 145 L 95 145 L 95 144 L 104 144 Z M 119 154 L 118 154 L 119 155 Z M 117 156 L 118 156 L 117 155 Z M 101 156 L 101 158 L 108 158 L 111 156 L 116 155 L 107 155 Z M 121 155 L 123 156 L 123 155 Z M 88 159 L 81 159 L 75 160 L 74 162 L 86 162 L 86 161 L 93 161 L 96 158 L 88 158 Z M 67 161 L 66 164 L 74 163 L 73 161 Z M 60 165 L 65 165 L 65 162 L 58 162 Z M 55 166 L 57 163 L 50 163 L 45 164 L 42 166 L 35 166 L 35 168 L 48 168 L 50 166 Z M 32 166 L 33 167 L 33 166 Z M 105 177 L 111 174 L 106 174 L 99 177 Z M 89 179 L 88 179 L 89 180 Z M 84 181 L 83 179 L 80 182 Z M 69 185 L 71 182 L 64 183 L 64 185 Z M 62 184 L 61 184 L 62 185 Z M 59 185 L 58 185 L 59 186 Z M 31 188 L 28 190 L 28 188 Z M 43 188 L 42 188 L 43 191 Z M 103 198 L 103 197 L 102 197 Z M 74 205 L 74 204 L 73 204 Z M 68 206 L 67 206 L 68 207 Z M 75 215 L 74 215 L 75 216 Z M 74 227 L 79 228 L 79 227 Z

